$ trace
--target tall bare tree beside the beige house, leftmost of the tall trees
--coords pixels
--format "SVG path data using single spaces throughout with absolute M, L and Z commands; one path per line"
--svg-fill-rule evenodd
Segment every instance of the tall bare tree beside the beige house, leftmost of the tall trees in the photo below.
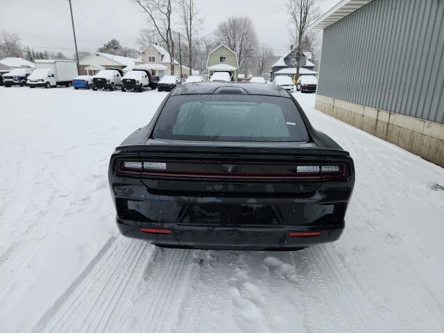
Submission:
M 173 8 L 171 0 L 133 0 L 153 24 L 160 39 L 167 46 L 171 58 L 171 75 L 174 75 L 174 40 L 171 30 Z

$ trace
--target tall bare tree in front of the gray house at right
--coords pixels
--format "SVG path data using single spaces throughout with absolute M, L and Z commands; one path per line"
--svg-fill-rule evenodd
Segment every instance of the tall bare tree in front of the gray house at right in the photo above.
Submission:
M 291 32 L 296 42 L 296 80 L 299 78 L 300 53 L 302 52 L 302 39 L 309 25 L 318 17 L 319 10 L 316 0 L 288 0 Z

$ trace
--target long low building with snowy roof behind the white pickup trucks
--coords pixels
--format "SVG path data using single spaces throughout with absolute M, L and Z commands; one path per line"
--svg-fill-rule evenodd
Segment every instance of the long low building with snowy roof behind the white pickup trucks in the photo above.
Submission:
M 134 67 L 135 65 L 139 65 L 141 63 L 142 61 L 134 58 L 96 52 L 79 60 L 80 75 L 94 75 L 101 69 L 109 67 L 123 69 L 128 66 Z

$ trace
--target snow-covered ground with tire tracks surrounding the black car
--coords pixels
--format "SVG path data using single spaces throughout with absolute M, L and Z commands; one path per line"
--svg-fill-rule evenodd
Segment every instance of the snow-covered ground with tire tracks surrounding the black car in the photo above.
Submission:
M 444 169 L 314 110 L 355 160 L 339 241 L 174 250 L 114 224 L 108 158 L 166 93 L 0 87 L 0 332 L 443 332 Z

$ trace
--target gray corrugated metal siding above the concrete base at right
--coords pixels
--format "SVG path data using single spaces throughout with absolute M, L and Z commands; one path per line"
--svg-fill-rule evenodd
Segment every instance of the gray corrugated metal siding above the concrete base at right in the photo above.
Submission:
M 325 28 L 318 94 L 444 123 L 444 0 L 373 0 Z

